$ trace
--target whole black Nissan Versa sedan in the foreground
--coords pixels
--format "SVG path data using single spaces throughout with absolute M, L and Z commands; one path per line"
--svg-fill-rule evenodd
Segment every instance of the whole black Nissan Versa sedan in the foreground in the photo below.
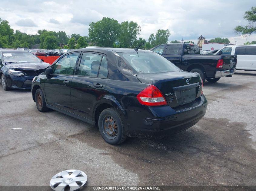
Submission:
M 40 112 L 49 108 L 99 128 L 112 145 L 127 136 L 162 136 L 196 124 L 207 100 L 198 73 L 138 49 L 76 49 L 32 81 Z

